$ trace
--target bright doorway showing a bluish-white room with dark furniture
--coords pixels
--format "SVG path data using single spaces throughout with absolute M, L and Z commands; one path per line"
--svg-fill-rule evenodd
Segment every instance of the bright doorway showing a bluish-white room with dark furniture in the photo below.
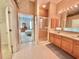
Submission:
M 22 44 L 34 42 L 34 16 L 19 13 L 19 35 Z

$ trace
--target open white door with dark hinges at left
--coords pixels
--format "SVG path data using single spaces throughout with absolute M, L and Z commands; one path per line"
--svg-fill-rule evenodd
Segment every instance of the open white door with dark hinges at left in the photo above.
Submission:
M 18 16 L 16 7 L 14 6 L 7 7 L 6 15 L 7 15 L 6 24 L 7 24 L 9 47 L 12 52 L 16 52 L 18 50 L 19 45 Z

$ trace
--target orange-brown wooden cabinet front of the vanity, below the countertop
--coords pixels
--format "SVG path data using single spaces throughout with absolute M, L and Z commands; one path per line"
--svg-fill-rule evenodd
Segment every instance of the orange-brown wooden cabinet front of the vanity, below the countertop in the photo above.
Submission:
M 49 34 L 49 39 L 54 45 L 79 59 L 79 41 L 52 33 Z

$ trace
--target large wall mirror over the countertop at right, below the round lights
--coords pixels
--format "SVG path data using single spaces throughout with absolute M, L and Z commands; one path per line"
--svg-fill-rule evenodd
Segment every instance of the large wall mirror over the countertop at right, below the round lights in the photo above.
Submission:
M 67 8 L 63 12 L 63 30 L 71 32 L 79 32 L 79 4 Z

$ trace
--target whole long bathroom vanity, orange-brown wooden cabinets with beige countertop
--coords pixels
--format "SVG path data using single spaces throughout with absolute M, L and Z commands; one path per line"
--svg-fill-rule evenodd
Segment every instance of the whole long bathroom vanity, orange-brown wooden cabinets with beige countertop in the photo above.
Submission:
M 75 34 L 76 36 L 77 34 Z M 57 47 L 63 49 L 68 54 L 79 59 L 79 37 L 75 37 L 73 34 L 55 31 L 49 32 L 50 42 Z

